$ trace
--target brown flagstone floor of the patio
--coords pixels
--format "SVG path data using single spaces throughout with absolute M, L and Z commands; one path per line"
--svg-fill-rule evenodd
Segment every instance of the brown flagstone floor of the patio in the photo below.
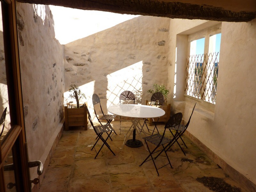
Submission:
M 119 135 L 119 122 L 111 123 L 117 135 L 113 135 L 108 144 L 114 156 L 106 146 L 94 159 L 96 151 L 92 148 L 96 134 L 88 124 L 88 130 L 82 127 L 71 128 L 63 135 L 57 145 L 52 160 L 41 181 L 40 192 L 210 192 L 209 188 L 196 181 L 196 178 L 208 176 L 224 179 L 231 186 L 241 188 L 223 170 L 212 162 L 192 142 L 183 137 L 188 146 L 186 156 L 179 146 L 174 144 L 169 150 L 172 167 L 165 166 L 157 176 L 152 161 L 139 166 L 148 156 L 144 146 L 139 148 L 120 147 L 124 134 Z M 158 125 L 159 130 L 164 124 Z M 170 134 L 170 133 L 169 133 Z M 101 142 L 96 145 L 99 150 Z M 151 146 L 153 148 L 153 146 Z M 156 159 L 158 166 L 166 164 L 165 155 Z M 241 191 L 246 191 L 241 188 Z

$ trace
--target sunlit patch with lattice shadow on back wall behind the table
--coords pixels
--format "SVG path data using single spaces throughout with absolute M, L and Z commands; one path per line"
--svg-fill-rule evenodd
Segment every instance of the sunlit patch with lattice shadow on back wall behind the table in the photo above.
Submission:
M 135 103 L 141 103 L 142 65 L 140 61 L 107 75 L 107 106 L 119 104 L 119 96 L 123 91 L 133 92 L 136 98 Z

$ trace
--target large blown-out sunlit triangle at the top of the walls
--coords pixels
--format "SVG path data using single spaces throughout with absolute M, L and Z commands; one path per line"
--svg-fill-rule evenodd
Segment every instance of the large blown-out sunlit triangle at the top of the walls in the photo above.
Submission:
M 60 44 L 70 43 L 140 16 L 54 5 L 49 7 L 54 20 L 55 38 L 59 40 Z

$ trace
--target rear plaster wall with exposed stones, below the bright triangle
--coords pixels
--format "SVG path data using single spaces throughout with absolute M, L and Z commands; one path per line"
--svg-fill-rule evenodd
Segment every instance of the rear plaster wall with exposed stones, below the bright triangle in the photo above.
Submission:
M 125 90 L 134 92 L 136 102 L 145 104 L 153 84 L 167 84 L 169 21 L 139 16 L 65 44 L 65 91 L 70 84 L 77 84 L 92 115 L 93 93 L 99 95 L 104 111 L 119 103 Z

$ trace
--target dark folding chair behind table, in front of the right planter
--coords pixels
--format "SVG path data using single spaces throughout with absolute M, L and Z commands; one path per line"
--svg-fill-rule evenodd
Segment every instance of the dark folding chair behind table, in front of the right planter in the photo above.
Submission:
M 160 108 L 162 109 L 162 108 L 163 108 L 163 105 L 164 105 L 164 95 L 163 95 L 162 93 L 160 93 L 160 92 L 155 92 L 155 93 L 151 96 L 151 99 L 150 99 L 150 106 L 156 106 L 156 107 L 160 107 Z M 154 132 L 157 131 L 157 133 L 159 134 L 159 131 L 158 131 L 157 126 L 156 126 L 156 124 L 157 124 L 158 121 L 159 121 L 159 118 L 160 118 L 160 117 L 152 118 L 152 120 L 153 120 L 152 123 L 147 122 L 147 121 L 148 121 L 147 118 L 144 119 L 144 123 L 143 123 L 143 125 L 142 125 L 142 128 L 143 128 L 143 126 L 146 124 L 147 129 L 148 129 L 148 132 L 149 132 L 149 130 L 152 131 L 152 135 L 153 135 Z M 154 126 L 155 126 L 154 129 L 153 129 L 153 130 L 149 129 L 147 124 L 149 124 L 149 125 L 154 125 Z M 156 131 L 155 131 L 155 130 L 156 130 Z

